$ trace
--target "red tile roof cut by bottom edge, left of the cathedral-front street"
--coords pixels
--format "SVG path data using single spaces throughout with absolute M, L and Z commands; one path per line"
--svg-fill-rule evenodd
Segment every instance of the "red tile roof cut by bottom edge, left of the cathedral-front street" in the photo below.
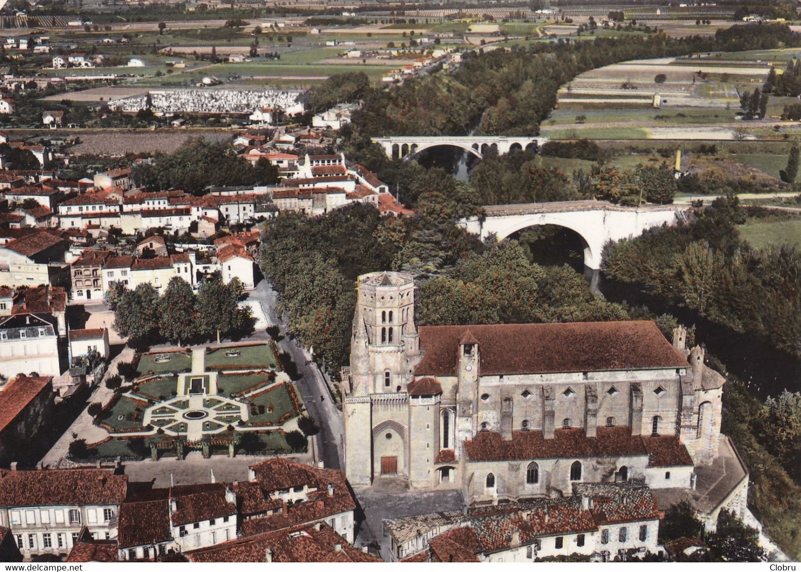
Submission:
M 353 548 L 328 525 L 279 530 L 237 538 L 209 548 L 184 553 L 190 562 L 381 562 Z

